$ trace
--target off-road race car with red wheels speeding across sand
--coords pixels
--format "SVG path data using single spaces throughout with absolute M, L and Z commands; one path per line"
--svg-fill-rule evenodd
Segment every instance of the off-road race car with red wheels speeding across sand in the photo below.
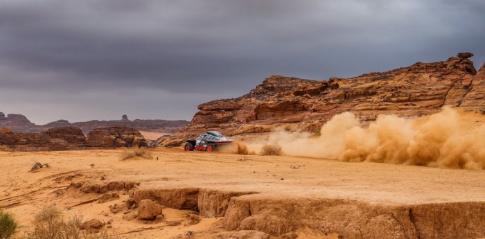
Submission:
M 227 139 L 218 131 L 208 131 L 205 134 L 200 134 L 197 139 L 187 139 L 185 143 L 185 151 L 207 151 L 212 152 L 217 150 L 221 145 L 226 145 L 233 142 L 233 139 Z

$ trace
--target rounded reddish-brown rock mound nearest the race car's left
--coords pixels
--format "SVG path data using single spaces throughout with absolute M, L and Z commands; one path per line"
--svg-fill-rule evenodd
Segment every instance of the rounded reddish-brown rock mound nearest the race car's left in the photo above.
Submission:
M 138 130 L 126 126 L 97 128 L 87 134 L 89 147 L 146 147 L 148 145 Z

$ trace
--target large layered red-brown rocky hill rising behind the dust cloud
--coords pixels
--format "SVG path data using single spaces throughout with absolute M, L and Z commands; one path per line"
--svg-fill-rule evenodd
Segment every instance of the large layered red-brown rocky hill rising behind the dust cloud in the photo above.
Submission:
M 485 64 L 477 70 L 459 53 L 443 62 L 417 62 L 354 78 L 303 80 L 270 76 L 244 96 L 214 100 L 198 106 L 190 124 L 161 146 L 179 146 L 184 139 L 207 130 L 227 135 L 316 131 L 335 114 L 354 112 L 362 122 L 378 114 L 416 117 L 438 112 L 443 105 L 485 109 Z

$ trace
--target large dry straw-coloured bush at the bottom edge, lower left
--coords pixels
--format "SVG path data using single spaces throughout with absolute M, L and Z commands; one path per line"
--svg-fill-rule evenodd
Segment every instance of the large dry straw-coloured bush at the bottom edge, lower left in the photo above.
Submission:
M 94 233 L 80 230 L 81 218 L 74 215 L 64 218 L 60 209 L 47 206 L 35 215 L 33 229 L 25 233 L 24 239 L 112 239 L 116 233 L 107 230 Z

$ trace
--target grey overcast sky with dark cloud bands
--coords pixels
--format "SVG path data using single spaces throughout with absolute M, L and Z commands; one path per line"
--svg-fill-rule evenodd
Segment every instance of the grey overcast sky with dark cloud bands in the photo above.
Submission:
M 0 112 L 186 119 L 267 76 L 485 62 L 483 0 L 0 0 Z

